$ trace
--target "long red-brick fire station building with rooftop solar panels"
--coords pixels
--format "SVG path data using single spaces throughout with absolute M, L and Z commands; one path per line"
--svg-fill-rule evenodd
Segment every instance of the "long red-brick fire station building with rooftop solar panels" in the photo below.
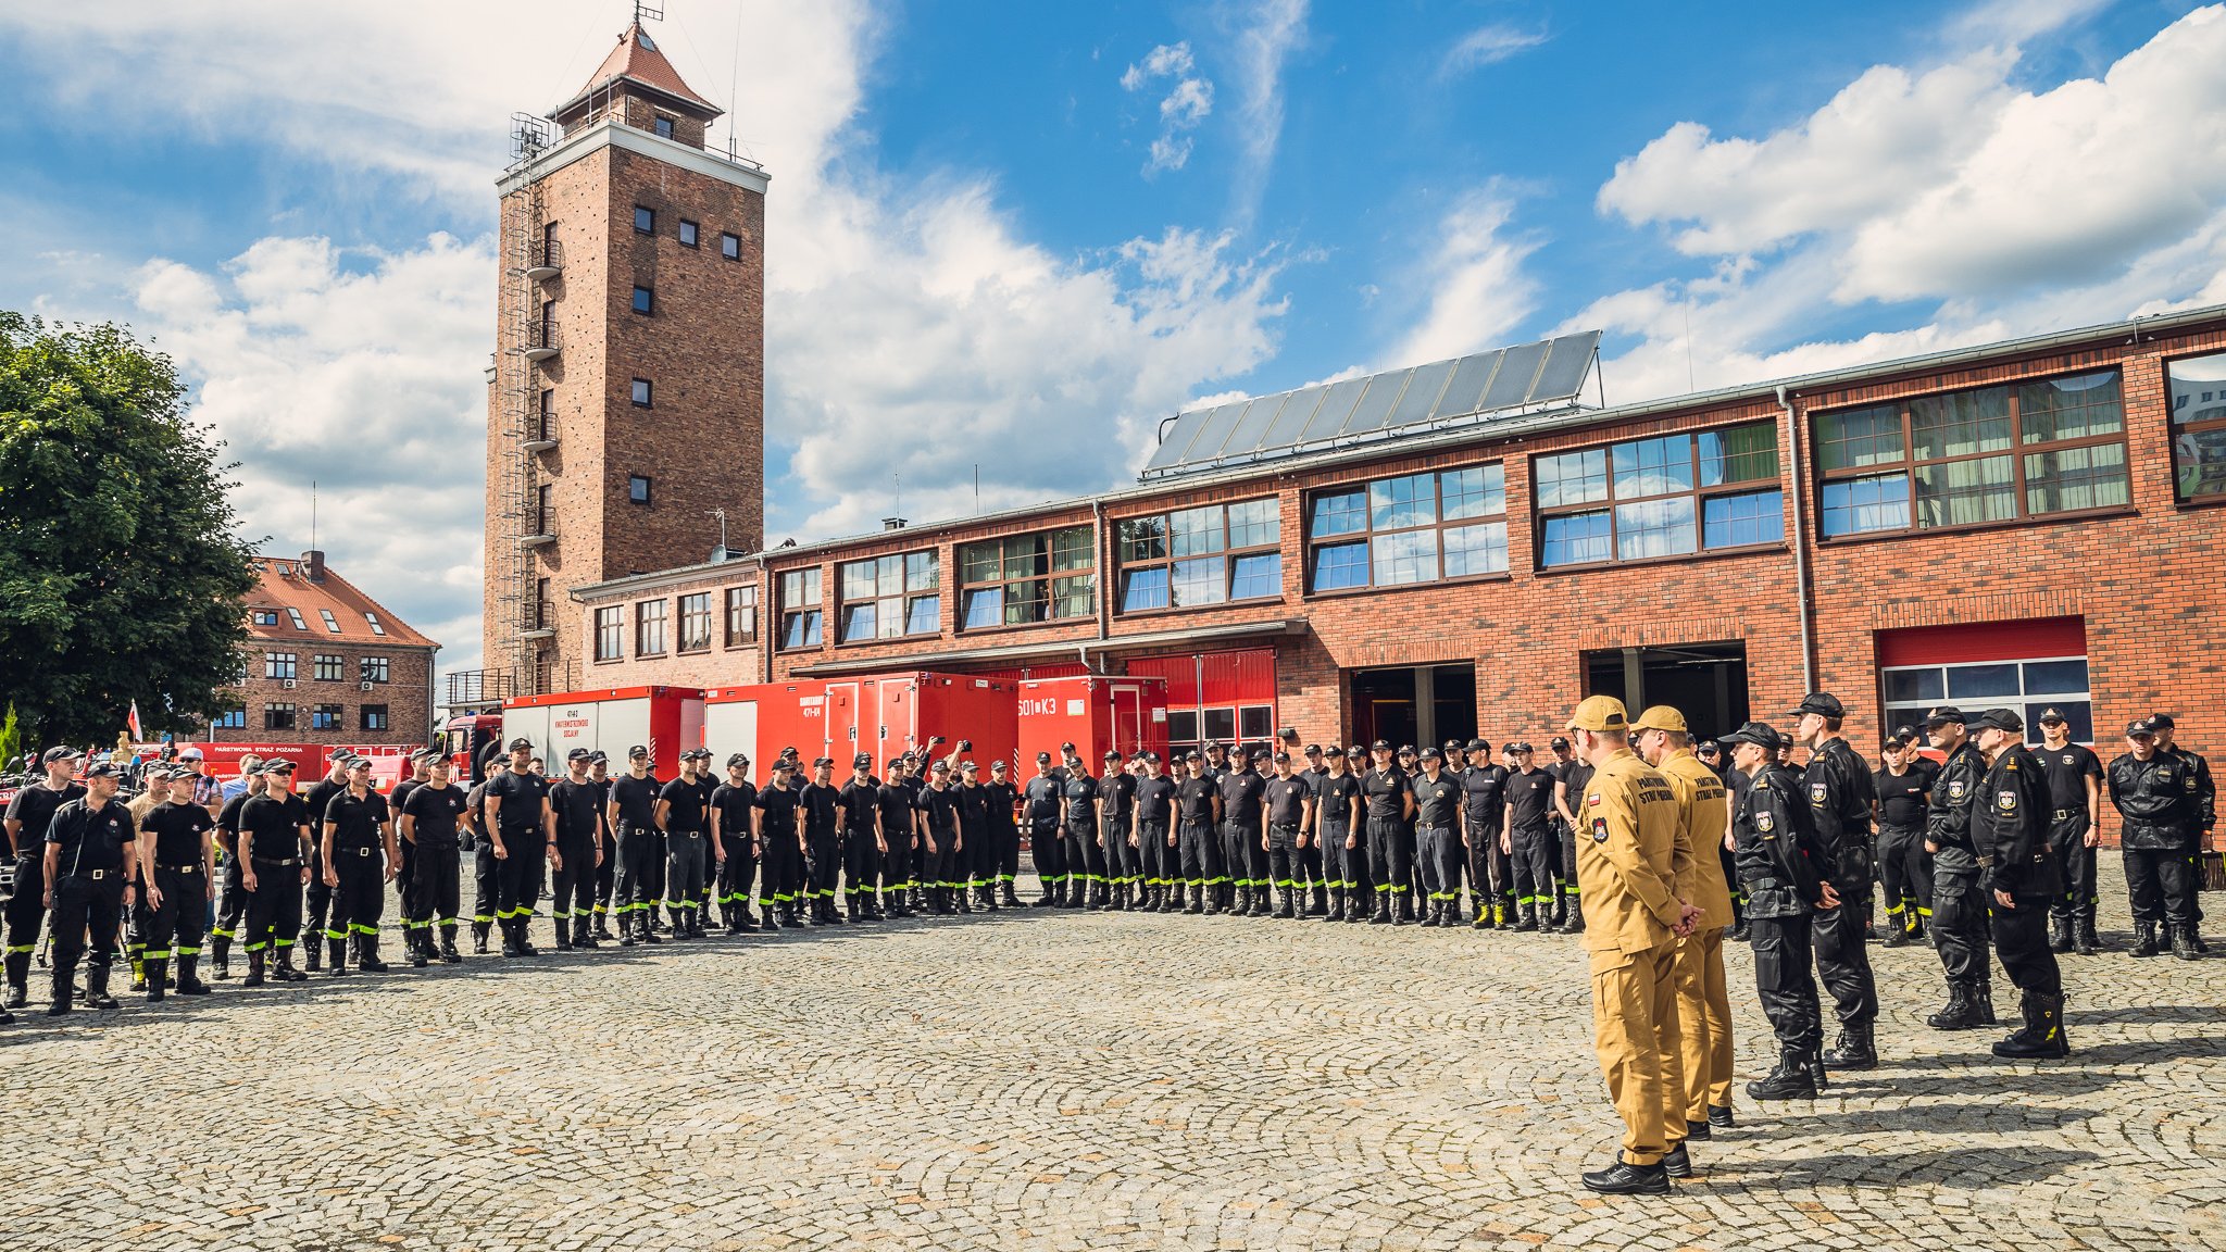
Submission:
M 1596 343 L 1186 412 L 1097 497 L 581 586 L 579 686 L 1155 675 L 1178 749 L 1543 740 L 1594 693 L 1725 733 L 1810 688 L 1859 746 L 1943 702 L 2226 742 L 2226 307 L 1616 408 Z

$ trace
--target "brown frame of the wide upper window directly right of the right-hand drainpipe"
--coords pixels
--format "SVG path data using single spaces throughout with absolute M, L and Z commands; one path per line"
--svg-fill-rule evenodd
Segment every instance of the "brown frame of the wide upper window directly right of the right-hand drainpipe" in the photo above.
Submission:
M 2117 374 L 2117 430 L 2110 430 L 2110 432 L 2104 432 L 2104 434 L 2084 434 L 2084 437 L 2077 437 L 2077 439 L 2043 439 L 2043 441 L 2028 443 L 2026 441 L 2023 399 L 2021 399 L 2023 388 L 2043 385 L 2043 383 L 2052 383 L 2052 381 L 2059 381 L 2059 379 L 2079 379 L 2079 376 L 2086 376 L 2086 374 Z M 1957 452 L 1952 457 L 1923 457 L 1923 459 L 1919 459 L 1919 454 L 1917 454 L 1917 412 L 1914 412 L 1917 403 L 1921 403 L 1921 401 L 1950 401 L 1954 397 L 1977 397 L 1981 392 L 1992 392 L 1992 390 L 2003 392 L 2006 399 L 2008 399 L 2008 403 L 2003 405 L 2003 414 L 2001 414 L 2001 421 L 2006 421 L 2008 430 L 2010 430 L 2010 437 L 2008 437 L 2006 446 L 2001 446 L 2001 448 L 1979 448 L 1974 452 Z M 1834 417 L 1848 417 L 1848 414 L 1856 414 L 1856 412 L 1865 412 L 1865 410 L 1879 410 L 1879 408 L 1888 408 L 1888 405 L 1892 405 L 1897 410 L 1899 419 L 1901 419 L 1901 426 L 1899 426 L 1899 432 L 1901 432 L 1901 454 L 1897 459 L 1892 459 L 1892 461 L 1870 461 L 1870 463 L 1863 463 L 1863 466 L 1845 466 L 1845 468 L 1839 468 L 1839 470 L 1825 470 L 1825 443 L 1828 441 L 1823 437 L 1823 423 L 1828 419 L 1834 419 Z M 2032 526 L 2032 524 L 2068 521 L 2068 519 L 2081 519 L 2081 517 L 2115 517 L 2115 515 L 2133 510 L 2133 446 L 2130 446 L 2130 432 L 2128 432 L 2126 368 L 2124 365 L 2097 365 L 2097 368 L 2088 368 L 2088 370 L 2052 370 L 2052 372 L 2046 372 L 2046 374 L 2032 374 L 2032 376 L 2023 376 L 2023 379 L 2006 379 L 2006 381 L 1986 383 L 1986 385 L 1979 385 L 1979 388 L 1948 388 L 1948 390 L 1937 390 L 1937 392 L 1914 392 L 1914 394 L 1883 399 L 1883 401 L 1872 401 L 1872 403 L 1861 403 L 1861 405 L 1819 408 L 1819 410 L 1810 410 L 1805 417 L 1808 417 L 1808 430 L 1810 430 L 1810 472 L 1814 475 L 1814 481 L 1816 481 L 1816 506 L 1814 506 L 1816 508 L 1816 512 L 1814 512 L 1816 544 L 1861 544 L 1861 541 L 1868 541 L 1868 539 L 1894 539 L 1894 537 L 1912 537 L 1912 535 L 1957 535 L 1957 532 L 1963 532 L 1963 530 L 1988 530 L 1988 528 L 1997 528 L 1997 526 Z M 1990 421 L 1990 419 L 1981 417 L 1979 421 Z M 2079 450 L 2079 448 L 2106 448 L 2106 446 L 2115 446 L 2119 450 L 2119 468 L 2121 468 L 2121 479 L 2126 483 L 2126 501 L 2124 503 L 2099 503 L 2099 506 L 2090 506 L 2090 508 L 2059 508 L 2059 510 L 2048 510 L 2048 512 L 2037 512 L 2032 508 L 2032 481 L 2035 479 L 2030 479 L 2026 475 L 2026 461 L 2030 457 L 2041 457 L 2041 454 L 2050 454 L 2050 452 L 2070 452 L 2070 450 Z M 1921 470 L 1921 468 L 1957 466 L 1957 463 L 1970 463 L 1970 461 L 1999 461 L 1999 459 L 2008 459 L 2010 461 L 2010 481 L 2008 481 L 2010 506 L 2012 506 L 2010 517 L 1988 517 L 1988 519 L 1979 519 L 1979 521 L 1946 521 L 1941 526 L 1921 526 L 1919 524 L 1917 470 Z M 1908 510 L 1908 524 L 1903 524 L 1903 526 L 1874 526 L 1874 528 L 1865 528 L 1865 530 L 1843 530 L 1839 535 L 1828 535 L 1825 532 L 1825 517 L 1828 517 L 1828 512 L 1825 512 L 1825 495 L 1830 492 L 1830 488 L 1834 488 L 1839 483 L 1881 481 L 1881 479 L 1901 479 L 1901 486 L 1903 486 L 1901 503 Z M 1946 499 L 1946 495 L 1943 495 L 1943 499 Z

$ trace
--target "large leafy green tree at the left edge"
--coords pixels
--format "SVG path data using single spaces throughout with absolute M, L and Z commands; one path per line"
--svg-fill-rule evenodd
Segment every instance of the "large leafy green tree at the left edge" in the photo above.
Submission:
M 29 744 L 220 708 L 256 586 L 220 448 L 129 330 L 0 312 L 0 704 Z

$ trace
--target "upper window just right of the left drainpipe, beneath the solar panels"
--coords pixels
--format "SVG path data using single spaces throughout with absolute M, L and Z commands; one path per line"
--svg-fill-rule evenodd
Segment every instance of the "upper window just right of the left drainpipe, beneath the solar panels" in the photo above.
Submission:
M 1282 517 L 1273 497 L 1131 517 L 1115 535 L 1122 613 L 1282 595 Z

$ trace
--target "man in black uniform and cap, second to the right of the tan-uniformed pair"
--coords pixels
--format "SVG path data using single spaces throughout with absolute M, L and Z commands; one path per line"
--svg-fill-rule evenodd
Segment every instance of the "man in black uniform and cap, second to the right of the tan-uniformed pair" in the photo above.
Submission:
M 1870 766 L 1839 733 L 1848 708 L 1830 691 L 1814 691 L 1787 717 L 1796 717 L 1794 744 L 1808 749 L 1801 791 L 1823 849 L 1823 873 L 1832 880 L 1839 907 L 1819 909 L 1816 980 L 1832 996 L 1839 1016 L 1839 1038 L 1823 1063 L 1832 1069 L 1874 1069 L 1879 1065 L 1877 1020 L 1879 982 L 1870 971 Z

